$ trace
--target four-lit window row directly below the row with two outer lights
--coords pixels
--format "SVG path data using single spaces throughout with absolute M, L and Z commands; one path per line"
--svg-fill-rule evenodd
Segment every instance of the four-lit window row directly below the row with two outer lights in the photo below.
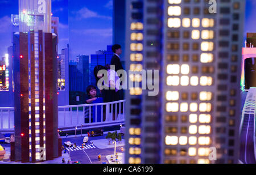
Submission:
M 212 104 L 210 103 L 200 103 L 199 106 L 197 103 L 189 104 L 190 112 L 210 112 L 212 110 Z M 166 104 L 167 112 L 179 112 L 179 103 L 167 103 Z M 180 103 L 180 112 L 188 112 L 188 103 Z

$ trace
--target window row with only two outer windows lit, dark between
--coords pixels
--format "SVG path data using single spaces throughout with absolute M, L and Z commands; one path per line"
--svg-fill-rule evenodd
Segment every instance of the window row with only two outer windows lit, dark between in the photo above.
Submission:
M 212 92 L 206 92 L 206 91 L 200 92 L 199 99 L 201 101 L 212 100 Z M 166 92 L 166 100 L 170 100 L 170 101 L 179 100 L 179 92 L 178 91 L 167 91 Z

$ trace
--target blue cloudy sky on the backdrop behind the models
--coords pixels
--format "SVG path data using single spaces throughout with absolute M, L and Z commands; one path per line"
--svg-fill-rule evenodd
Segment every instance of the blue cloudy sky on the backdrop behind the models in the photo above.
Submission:
M 59 17 L 59 53 L 69 44 L 75 59 L 112 45 L 112 1 L 52 0 L 52 14 Z M 256 0 L 246 0 L 244 39 L 247 32 L 256 32 L 255 9 Z M 18 0 L 0 0 L 0 57 L 11 45 L 11 14 L 18 14 Z

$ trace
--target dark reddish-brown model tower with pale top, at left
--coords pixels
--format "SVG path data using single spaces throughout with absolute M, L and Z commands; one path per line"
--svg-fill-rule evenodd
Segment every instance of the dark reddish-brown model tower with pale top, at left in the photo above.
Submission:
M 15 161 L 58 157 L 57 35 L 51 0 L 19 0 L 14 46 Z

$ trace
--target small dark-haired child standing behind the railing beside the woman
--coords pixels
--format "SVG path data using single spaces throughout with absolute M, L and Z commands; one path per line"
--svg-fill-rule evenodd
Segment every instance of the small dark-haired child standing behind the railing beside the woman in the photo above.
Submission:
M 86 88 L 86 100 L 85 103 L 86 104 L 91 104 L 93 101 L 95 101 L 97 99 L 96 95 L 97 95 L 97 91 L 96 91 L 96 87 L 90 85 Z M 89 116 L 90 113 L 90 116 Z M 84 110 L 84 122 L 85 123 L 89 123 L 89 121 L 92 123 L 93 122 L 93 108 L 92 106 L 85 106 L 85 110 Z

